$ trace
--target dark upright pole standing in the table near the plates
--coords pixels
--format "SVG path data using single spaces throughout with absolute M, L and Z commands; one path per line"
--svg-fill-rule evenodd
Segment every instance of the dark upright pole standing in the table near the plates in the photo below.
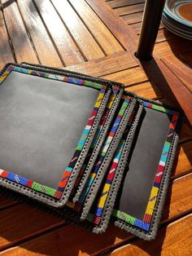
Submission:
M 142 29 L 136 56 L 139 60 L 151 60 L 157 38 L 165 0 L 146 0 L 142 17 Z

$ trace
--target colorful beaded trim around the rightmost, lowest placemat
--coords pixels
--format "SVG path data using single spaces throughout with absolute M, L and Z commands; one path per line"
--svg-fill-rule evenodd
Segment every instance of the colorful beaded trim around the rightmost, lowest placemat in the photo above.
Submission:
M 149 231 L 152 215 L 155 210 L 155 203 L 157 201 L 160 183 L 161 183 L 162 177 L 164 176 L 164 167 L 165 167 L 166 161 L 168 159 L 168 152 L 171 147 L 172 138 L 174 135 L 174 130 L 177 125 L 179 113 L 169 110 L 167 108 L 164 108 L 163 106 L 151 104 L 148 102 L 144 102 L 143 105 L 146 108 L 152 108 L 154 110 L 157 110 L 157 111 L 160 111 L 163 113 L 167 113 L 169 116 L 172 117 L 172 121 L 170 123 L 169 130 L 168 130 L 168 137 L 164 143 L 164 148 L 163 148 L 163 151 L 162 151 L 162 154 L 160 157 L 158 169 L 156 170 L 156 173 L 155 173 L 155 180 L 153 183 L 153 187 L 151 189 L 151 195 L 150 195 L 148 204 L 146 206 L 146 212 L 144 214 L 143 219 L 141 220 L 138 218 L 134 218 L 133 216 L 130 216 L 129 214 L 126 214 L 120 210 L 113 210 L 112 215 L 115 216 L 116 218 L 122 219 L 126 223 L 132 224 L 135 227 L 140 227 L 143 230 Z

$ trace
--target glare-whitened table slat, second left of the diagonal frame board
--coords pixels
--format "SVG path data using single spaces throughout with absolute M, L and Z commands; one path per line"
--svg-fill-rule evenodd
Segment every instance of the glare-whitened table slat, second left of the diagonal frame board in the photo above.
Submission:
M 98 46 L 98 43 L 95 42 L 91 33 L 86 29 L 85 24 L 83 24 L 68 1 L 52 0 L 52 2 L 59 12 L 62 20 L 68 26 L 70 33 L 72 33 L 72 37 L 76 40 L 76 43 L 84 54 L 85 59 L 93 60 L 104 57 L 105 55 Z

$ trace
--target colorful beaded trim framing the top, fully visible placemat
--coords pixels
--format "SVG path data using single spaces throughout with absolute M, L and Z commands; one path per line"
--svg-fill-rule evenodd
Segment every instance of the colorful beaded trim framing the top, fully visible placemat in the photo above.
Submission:
M 104 95 L 107 91 L 107 86 L 103 86 L 103 85 L 100 85 L 95 82 L 89 82 L 89 81 L 77 79 L 74 77 L 65 77 L 65 76 L 60 76 L 60 75 L 56 75 L 56 74 L 52 74 L 52 73 L 44 73 L 44 72 L 40 72 L 40 71 L 34 71 L 34 70 L 28 69 L 28 68 L 20 68 L 19 66 L 14 66 L 14 65 L 8 66 L 8 68 L 4 71 L 4 73 L 2 73 L 2 75 L 0 77 L 0 86 L 2 85 L 2 82 L 6 79 L 6 77 L 9 75 L 9 73 L 11 73 L 11 71 L 30 74 L 30 75 L 38 76 L 38 77 L 46 77 L 46 78 L 58 80 L 61 82 L 72 83 L 72 84 L 75 84 L 78 86 L 89 86 L 94 89 L 100 90 L 98 99 L 94 105 L 94 110 L 92 111 L 91 116 L 89 117 L 89 120 L 87 122 L 87 125 L 85 126 L 85 130 L 84 130 L 83 134 L 81 135 L 81 139 L 79 140 L 79 142 L 77 144 L 77 147 L 76 147 L 75 153 L 72 157 L 72 160 L 70 161 L 68 167 L 64 171 L 63 177 L 61 178 L 61 181 L 59 182 L 59 188 L 57 188 L 57 189 L 50 188 L 43 184 L 37 183 L 33 180 L 26 179 L 18 174 L 14 174 L 10 171 L 0 170 L 1 178 L 9 179 L 12 182 L 19 183 L 20 185 L 23 185 L 24 187 L 32 188 L 33 190 L 35 190 L 37 192 L 42 192 L 48 196 L 55 197 L 55 199 L 60 199 L 60 197 L 63 194 L 64 188 L 66 187 L 66 185 L 68 183 L 68 179 L 69 179 L 70 175 L 72 174 L 72 170 L 73 170 L 74 166 L 76 165 L 76 161 L 78 160 L 78 157 L 80 156 L 81 150 L 85 145 L 86 138 L 89 135 L 89 130 L 91 129 L 91 127 L 94 124 L 95 117 L 98 114 L 98 109 L 100 108 L 100 106 L 103 102 Z

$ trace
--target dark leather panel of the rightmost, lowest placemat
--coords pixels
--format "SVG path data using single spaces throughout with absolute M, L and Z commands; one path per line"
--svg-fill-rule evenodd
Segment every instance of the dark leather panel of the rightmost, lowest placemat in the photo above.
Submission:
M 124 184 L 121 184 L 117 210 L 143 218 L 169 125 L 167 114 L 145 108 L 135 135 Z

